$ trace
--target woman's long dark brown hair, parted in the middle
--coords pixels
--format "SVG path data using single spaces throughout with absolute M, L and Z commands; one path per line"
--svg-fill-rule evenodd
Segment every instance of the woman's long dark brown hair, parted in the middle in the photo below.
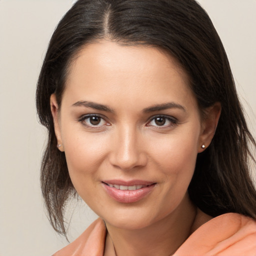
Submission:
M 36 107 L 48 129 L 41 163 L 41 188 L 49 220 L 66 234 L 63 220 L 67 199 L 75 194 L 65 154 L 56 148 L 49 98 L 59 106 L 68 67 L 81 47 L 109 38 L 127 45 L 153 45 L 171 54 L 190 77 L 203 109 L 220 102 L 222 112 L 209 147 L 198 154 L 188 192 L 211 216 L 238 212 L 256 218 L 256 191 L 249 175 L 249 132 L 228 59 L 207 13 L 195 0 L 78 0 L 57 25 L 37 82 Z

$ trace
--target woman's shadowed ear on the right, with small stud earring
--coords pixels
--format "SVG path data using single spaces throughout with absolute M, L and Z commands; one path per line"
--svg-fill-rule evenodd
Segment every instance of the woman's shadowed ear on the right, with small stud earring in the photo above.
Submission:
M 204 119 L 201 124 L 201 134 L 198 140 L 198 153 L 209 146 L 217 128 L 218 119 L 221 112 L 220 102 L 215 102 L 204 110 Z M 202 147 L 204 145 L 204 147 Z

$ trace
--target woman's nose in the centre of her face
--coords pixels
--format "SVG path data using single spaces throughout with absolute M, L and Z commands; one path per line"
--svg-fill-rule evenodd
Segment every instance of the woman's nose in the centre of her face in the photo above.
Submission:
M 135 128 L 120 128 L 111 141 L 110 163 L 122 170 L 130 170 L 146 165 L 147 157 L 143 150 L 139 131 Z

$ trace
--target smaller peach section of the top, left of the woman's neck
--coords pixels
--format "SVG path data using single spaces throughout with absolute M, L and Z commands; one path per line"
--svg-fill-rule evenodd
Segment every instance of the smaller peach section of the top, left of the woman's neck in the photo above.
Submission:
M 101 256 L 104 251 L 105 235 L 104 222 L 98 218 L 77 239 L 52 256 Z

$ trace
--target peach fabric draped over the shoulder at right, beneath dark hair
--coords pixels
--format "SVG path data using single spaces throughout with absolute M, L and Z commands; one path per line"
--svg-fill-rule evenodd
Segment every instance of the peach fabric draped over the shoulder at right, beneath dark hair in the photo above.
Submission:
M 174 255 L 255 256 L 255 241 L 255 220 L 226 213 L 199 226 Z

